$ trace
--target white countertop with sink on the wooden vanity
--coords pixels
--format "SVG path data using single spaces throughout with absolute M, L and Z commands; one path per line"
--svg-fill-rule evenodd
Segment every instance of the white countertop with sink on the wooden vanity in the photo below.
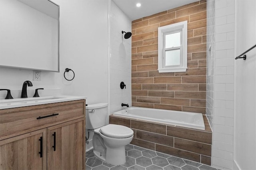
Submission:
M 68 101 L 83 100 L 83 99 L 86 99 L 86 97 L 65 96 L 65 95 L 42 96 L 42 97 L 36 97 L 36 98 L 0 99 L 0 109 L 10 109 L 10 108 L 24 107 L 24 106 L 35 106 L 40 104 L 68 102 Z

